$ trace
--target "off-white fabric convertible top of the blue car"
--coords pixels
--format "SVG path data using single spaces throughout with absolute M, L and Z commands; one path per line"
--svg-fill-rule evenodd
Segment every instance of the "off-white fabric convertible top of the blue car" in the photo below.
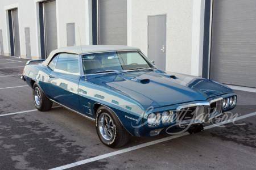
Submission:
M 134 48 L 125 45 L 82 45 L 82 46 L 67 46 L 61 47 L 56 50 L 52 50 L 48 58 L 42 62 L 43 65 L 48 65 L 52 57 L 57 53 L 72 53 L 72 54 L 85 54 L 85 53 L 97 53 L 97 52 L 108 52 L 115 50 L 139 50 L 139 48 Z

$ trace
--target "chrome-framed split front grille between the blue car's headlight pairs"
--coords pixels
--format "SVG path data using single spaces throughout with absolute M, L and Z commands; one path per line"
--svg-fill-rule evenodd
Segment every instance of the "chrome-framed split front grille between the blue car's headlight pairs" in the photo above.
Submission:
M 181 105 L 176 109 L 176 126 L 185 128 L 189 125 L 205 124 L 221 116 L 223 98 L 210 100 L 205 103 Z

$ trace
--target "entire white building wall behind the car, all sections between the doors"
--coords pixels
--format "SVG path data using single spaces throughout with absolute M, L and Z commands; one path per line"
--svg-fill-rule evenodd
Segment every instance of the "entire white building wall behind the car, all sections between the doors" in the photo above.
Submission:
M 92 44 L 92 0 L 56 0 L 58 47 L 67 46 L 67 23 L 75 23 L 76 45 Z M 18 7 L 20 53 L 26 58 L 24 28 L 30 28 L 32 59 L 40 58 L 38 3 L 42 0 L 0 0 L 0 29 L 10 56 L 7 10 Z M 127 45 L 147 56 L 147 19 L 166 14 L 166 70 L 201 75 L 204 0 L 127 0 Z M 80 36 L 79 36 L 80 29 Z M 81 42 L 80 42 L 81 38 Z

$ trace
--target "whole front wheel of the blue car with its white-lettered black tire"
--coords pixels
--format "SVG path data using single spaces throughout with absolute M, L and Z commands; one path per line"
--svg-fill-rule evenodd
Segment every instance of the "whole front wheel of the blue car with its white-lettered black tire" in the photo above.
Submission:
M 98 137 L 104 145 L 114 148 L 124 146 L 129 142 L 130 134 L 109 108 L 103 106 L 98 108 L 95 125 Z

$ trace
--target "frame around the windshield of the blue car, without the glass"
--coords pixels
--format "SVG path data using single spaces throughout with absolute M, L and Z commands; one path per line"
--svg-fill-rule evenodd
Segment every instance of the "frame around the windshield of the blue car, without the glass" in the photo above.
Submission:
M 93 74 L 86 74 L 86 71 L 84 73 L 84 69 L 82 67 L 82 56 L 86 54 L 96 54 L 96 53 L 108 53 L 108 52 L 138 52 L 141 54 L 142 58 L 147 62 L 147 64 L 150 66 L 150 68 L 144 68 L 139 70 L 145 70 L 145 69 L 156 69 L 155 65 L 141 52 L 141 50 L 109 50 L 109 51 L 102 51 L 102 52 L 93 52 L 93 53 L 83 53 L 79 55 L 79 67 L 80 67 L 80 75 L 81 76 L 88 76 L 88 75 L 97 75 L 97 74 L 110 74 L 110 73 L 120 73 L 120 72 L 128 72 L 128 71 L 134 71 L 134 70 L 118 70 L 118 71 L 112 71 L 107 73 L 93 73 Z

